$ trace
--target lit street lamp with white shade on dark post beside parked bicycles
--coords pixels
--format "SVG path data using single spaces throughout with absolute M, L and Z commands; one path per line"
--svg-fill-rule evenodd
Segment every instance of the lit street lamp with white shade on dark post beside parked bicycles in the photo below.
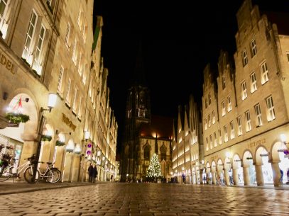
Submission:
M 48 108 L 40 108 L 40 123 L 38 125 L 38 146 L 37 146 L 37 151 L 36 151 L 36 157 L 34 161 L 34 166 L 33 166 L 33 176 L 32 176 L 32 183 L 36 183 L 36 172 L 37 172 L 37 167 L 38 167 L 38 162 L 39 162 L 39 157 L 40 157 L 40 149 L 41 149 L 41 135 L 43 132 L 43 127 L 45 125 L 45 116 L 43 115 L 43 111 L 49 110 L 49 113 L 51 110 L 55 107 L 57 96 L 54 93 L 49 93 L 48 94 Z

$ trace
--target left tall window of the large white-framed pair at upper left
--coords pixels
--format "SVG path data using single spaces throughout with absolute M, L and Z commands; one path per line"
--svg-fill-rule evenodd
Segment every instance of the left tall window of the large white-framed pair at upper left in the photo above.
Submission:
M 22 58 L 26 59 L 28 64 L 32 64 L 33 60 L 33 40 L 36 30 L 36 23 L 38 20 L 38 16 L 36 11 L 32 10 L 31 17 L 29 20 L 28 30 L 26 32 L 26 38 L 24 42 L 24 49 L 22 52 Z

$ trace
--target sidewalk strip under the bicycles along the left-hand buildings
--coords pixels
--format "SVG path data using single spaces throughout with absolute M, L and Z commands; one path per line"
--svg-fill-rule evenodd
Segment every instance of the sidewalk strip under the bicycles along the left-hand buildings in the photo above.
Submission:
M 92 186 L 101 183 L 109 183 L 103 181 L 97 181 L 96 183 L 88 182 L 60 182 L 60 183 L 27 183 L 26 181 L 14 181 L 8 180 L 0 182 L 0 195 L 6 195 L 11 193 L 26 193 L 32 191 L 43 191 L 50 190 L 55 188 L 70 188 L 70 187 L 79 187 L 79 186 Z

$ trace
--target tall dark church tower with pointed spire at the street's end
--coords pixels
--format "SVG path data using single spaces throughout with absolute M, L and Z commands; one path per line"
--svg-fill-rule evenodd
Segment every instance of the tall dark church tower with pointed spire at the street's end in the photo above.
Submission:
M 139 130 L 151 122 L 150 91 L 146 86 L 141 45 L 126 99 L 124 140 L 121 148 L 121 181 L 135 180 L 139 166 Z

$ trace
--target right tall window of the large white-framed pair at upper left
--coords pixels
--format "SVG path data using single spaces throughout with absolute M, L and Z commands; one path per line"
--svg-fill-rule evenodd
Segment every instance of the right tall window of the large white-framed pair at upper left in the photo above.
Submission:
M 35 55 L 33 59 L 33 69 L 36 70 L 37 74 L 40 75 L 42 72 L 42 62 L 43 62 L 43 41 L 45 38 L 46 29 L 44 25 L 41 25 L 38 42 L 36 45 Z

